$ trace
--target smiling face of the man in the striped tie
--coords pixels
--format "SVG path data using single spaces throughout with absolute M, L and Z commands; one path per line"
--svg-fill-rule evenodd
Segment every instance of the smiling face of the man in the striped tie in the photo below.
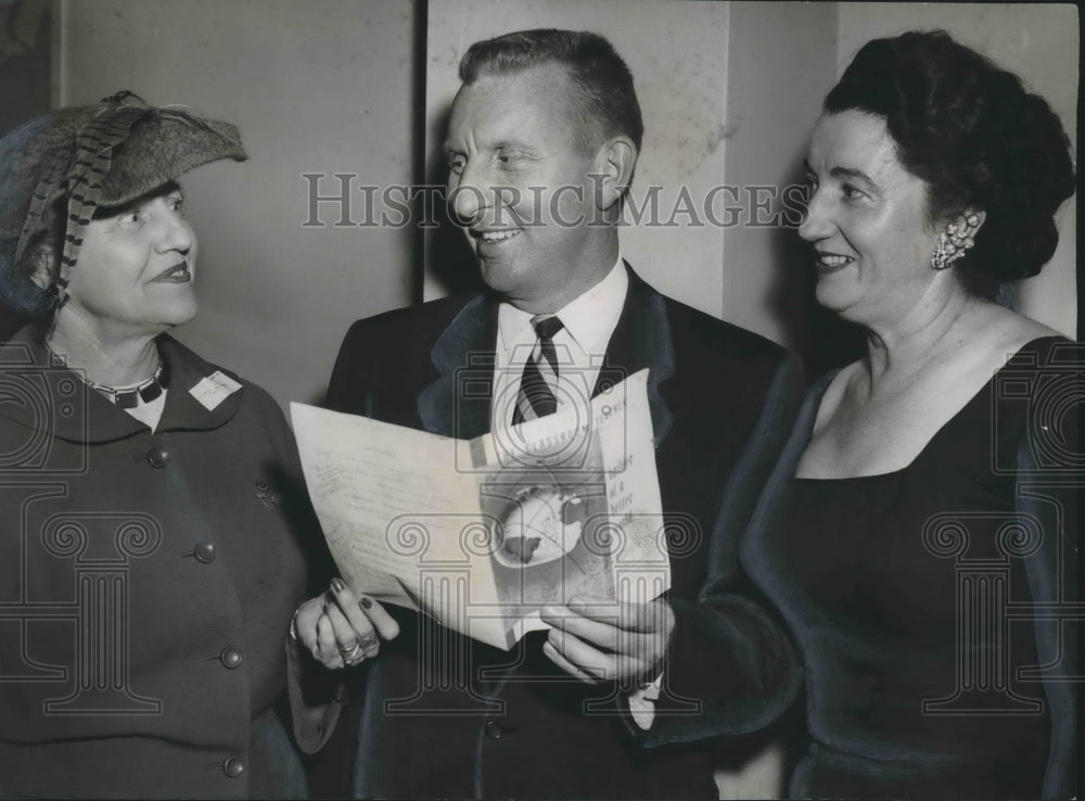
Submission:
M 576 98 L 557 64 L 480 76 L 456 96 L 445 143 L 449 205 L 483 280 L 536 313 L 602 277 L 592 259 L 607 228 L 590 177 L 597 154 L 577 127 Z

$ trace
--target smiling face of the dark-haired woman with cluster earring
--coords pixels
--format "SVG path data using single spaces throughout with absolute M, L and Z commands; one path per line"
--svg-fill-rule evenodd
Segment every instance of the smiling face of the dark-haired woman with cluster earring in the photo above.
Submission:
M 855 322 L 898 321 L 936 275 L 927 183 L 901 163 L 884 118 L 859 111 L 818 120 L 806 170 L 799 233 L 815 250 L 818 303 Z

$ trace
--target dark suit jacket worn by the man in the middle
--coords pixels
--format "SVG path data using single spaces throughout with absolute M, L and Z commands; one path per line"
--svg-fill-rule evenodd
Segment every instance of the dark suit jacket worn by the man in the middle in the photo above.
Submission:
M 489 430 L 497 303 L 469 294 L 356 322 L 332 409 L 460 438 Z M 597 382 L 643 367 L 668 522 L 676 627 L 651 729 L 613 686 L 589 687 L 541 654 L 511 652 L 393 609 L 400 636 L 358 669 L 361 797 L 715 797 L 695 745 L 755 730 L 793 698 L 799 666 L 753 599 L 738 545 L 790 431 L 801 370 L 783 348 L 630 284 Z

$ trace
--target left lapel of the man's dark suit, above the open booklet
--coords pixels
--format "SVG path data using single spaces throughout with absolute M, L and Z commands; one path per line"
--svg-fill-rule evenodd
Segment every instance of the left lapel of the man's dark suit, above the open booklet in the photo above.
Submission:
M 437 378 L 418 395 L 422 428 L 471 440 L 489 431 L 497 304 L 475 295 L 441 333 L 430 352 Z

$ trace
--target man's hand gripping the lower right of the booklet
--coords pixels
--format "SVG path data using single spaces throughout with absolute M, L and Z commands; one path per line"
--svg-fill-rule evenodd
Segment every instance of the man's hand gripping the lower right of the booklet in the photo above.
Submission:
M 576 596 L 569 606 L 546 606 L 542 620 L 553 626 L 542 652 L 582 682 L 617 682 L 637 687 L 663 670 L 675 615 L 664 600 L 626 603 Z

